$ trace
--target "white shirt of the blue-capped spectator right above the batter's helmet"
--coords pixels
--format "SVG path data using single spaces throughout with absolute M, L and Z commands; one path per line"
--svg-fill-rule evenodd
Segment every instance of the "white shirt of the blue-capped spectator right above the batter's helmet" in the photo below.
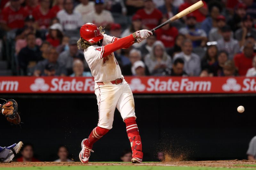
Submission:
M 96 26 L 107 26 L 108 24 L 114 23 L 112 14 L 107 10 L 103 10 L 100 14 L 93 11 L 88 15 L 88 20 Z

